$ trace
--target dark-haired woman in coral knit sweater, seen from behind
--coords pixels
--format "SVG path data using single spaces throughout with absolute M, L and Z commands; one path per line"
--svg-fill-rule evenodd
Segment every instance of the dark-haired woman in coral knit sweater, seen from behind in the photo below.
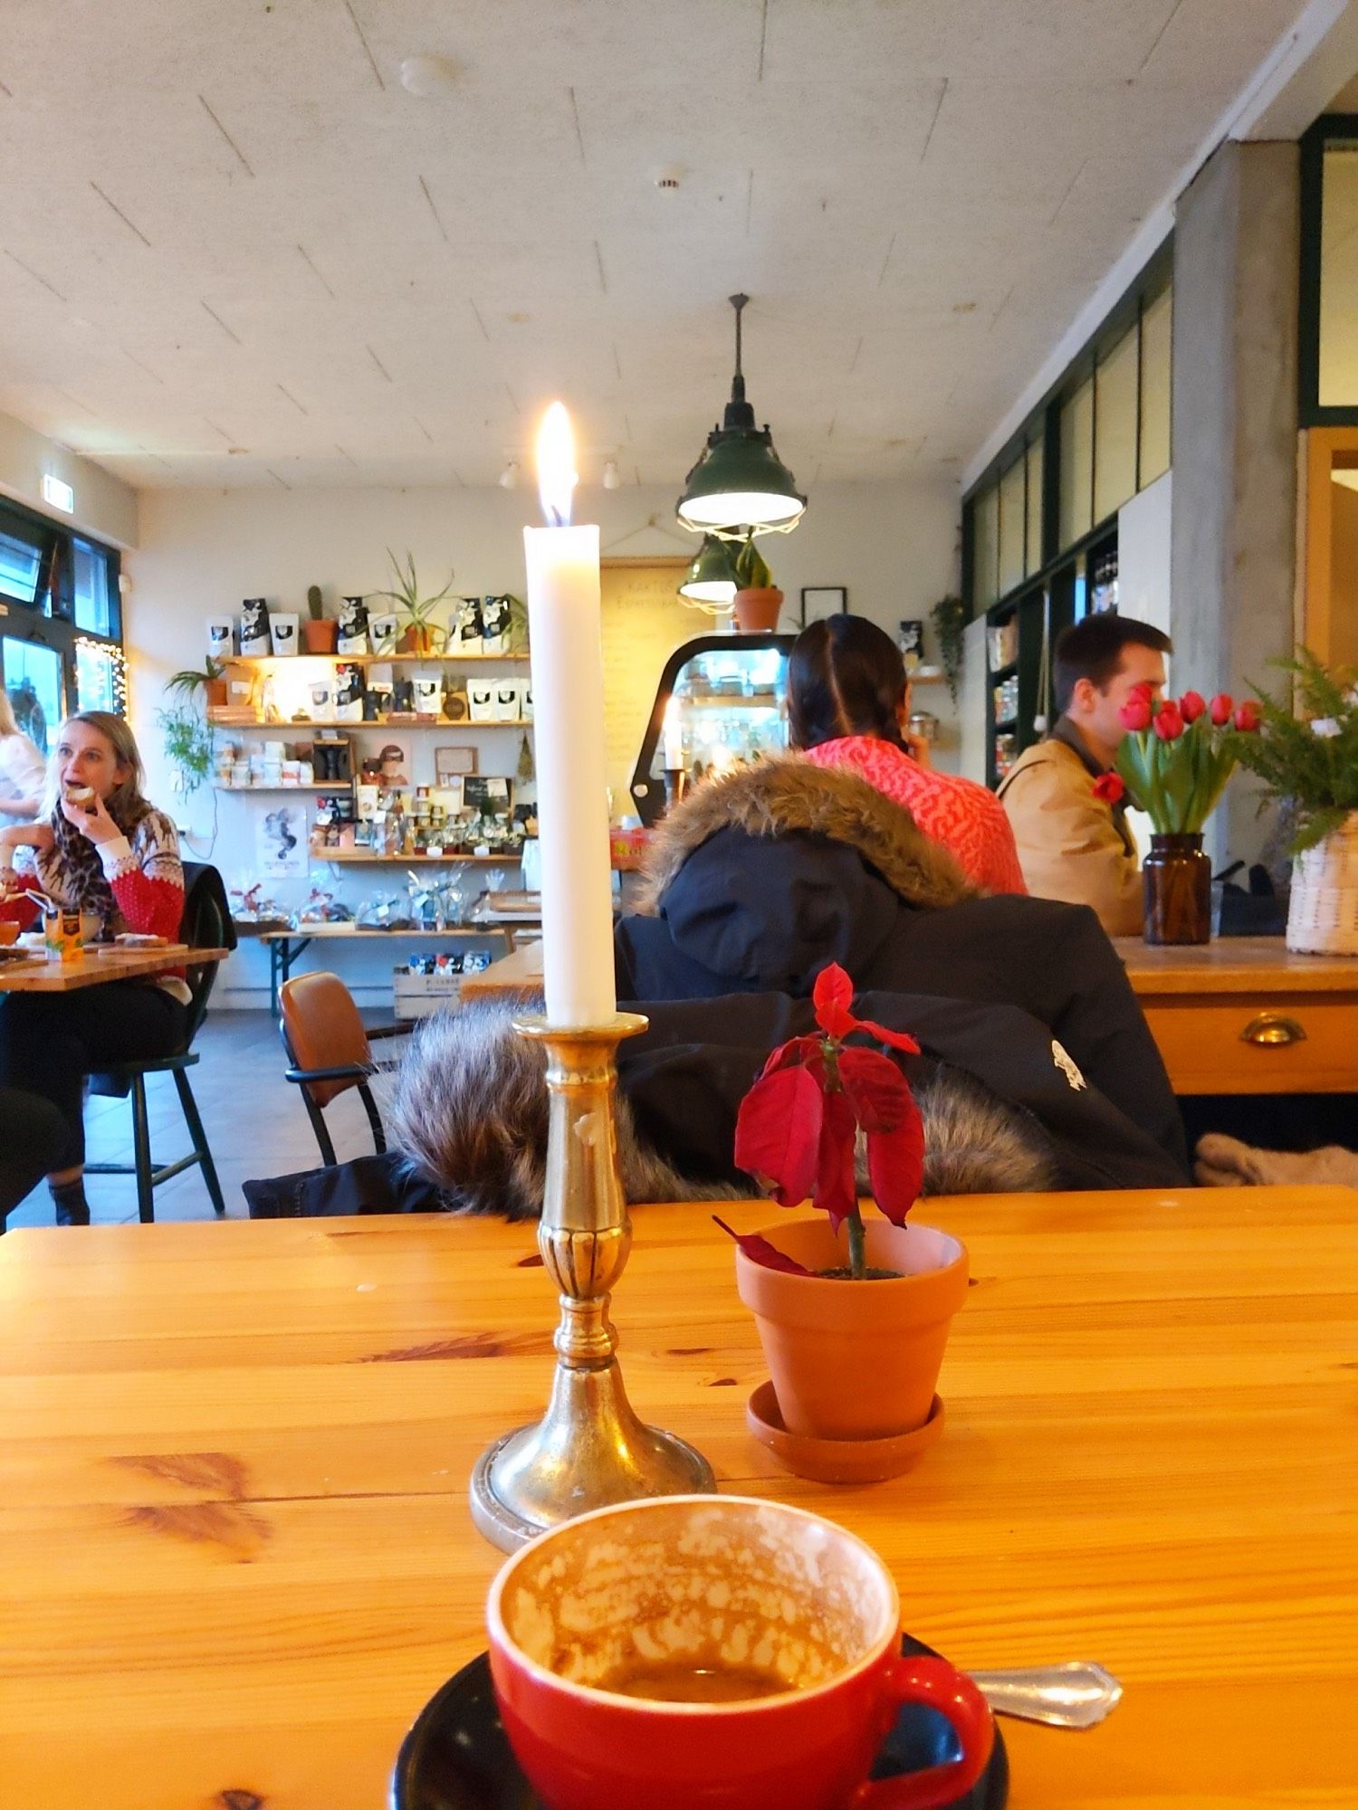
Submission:
M 788 659 L 791 744 L 818 767 L 849 767 L 905 805 L 987 892 L 1027 892 L 1005 807 L 974 780 L 934 773 L 909 749 L 905 662 L 862 615 L 811 623 Z

